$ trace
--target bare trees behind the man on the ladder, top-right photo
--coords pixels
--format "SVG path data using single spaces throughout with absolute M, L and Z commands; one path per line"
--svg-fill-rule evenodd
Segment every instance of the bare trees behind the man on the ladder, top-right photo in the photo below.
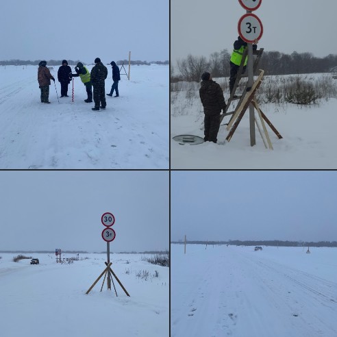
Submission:
M 212 53 L 208 59 L 190 54 L 171 66 L 171 82 L 200 82 L 204 71 L 211 73 L 212 77 L 229 77 L 231 55 L 232 51 L 227 49 Z M 328 73 L 337 71 L 337 54 L 316 58 L 312 53 L 264 51 L 258 68 L 264 70 L 264 75 Z

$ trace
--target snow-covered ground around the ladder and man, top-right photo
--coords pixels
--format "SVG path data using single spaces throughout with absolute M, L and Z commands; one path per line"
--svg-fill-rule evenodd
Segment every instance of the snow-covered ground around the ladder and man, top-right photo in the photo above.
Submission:
M 317 74 L 316 74 L 317 75 Z M 321 74 L 318 74 L 321 75 Z M 217 83 L 227 79 L 214 79 Z M 335 79 L 337 83 L 337 79 Z M 196 84 L 199 90 L 200 85 Z M 198 90 L 171 92 L 171 168 L 173 169 L 336 169 L 337 99 L 321 100 L 318 105 L 261 104 L 260 108 L 282 135 L 266 125 L 273 150 L 266 149 L 255 127 L 256 145 L 250 146 L 249 110 L 230 142 L 224 123 L 218 144 L 179 145 L 174 136 L 191 134 L 203 138 L 203 107 Z M 229 98 L 224 92 L 225 100 Z M 234 101 L 236 104 L 238 101 Z M 234 105 L 229 111 L 234 111 Z

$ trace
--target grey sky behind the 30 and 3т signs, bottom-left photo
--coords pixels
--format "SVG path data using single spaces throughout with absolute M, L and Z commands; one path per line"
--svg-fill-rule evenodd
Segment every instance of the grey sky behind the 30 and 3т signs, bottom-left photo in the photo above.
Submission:
M 168 249 L 168 172 L 0 171 L 0 250 Z

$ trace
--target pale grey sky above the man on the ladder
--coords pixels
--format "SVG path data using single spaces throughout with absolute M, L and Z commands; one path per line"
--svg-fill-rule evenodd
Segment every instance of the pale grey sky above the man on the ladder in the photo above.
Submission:
M 262 0 L 253 14 L 262 21 L 258 47 L 282 53 L 336 54 L 336 0 Z M 238 21 L 246 10 L 238 0 L 171 0 L 171 62 L 188 53 L 208 58 L 233 50 Z

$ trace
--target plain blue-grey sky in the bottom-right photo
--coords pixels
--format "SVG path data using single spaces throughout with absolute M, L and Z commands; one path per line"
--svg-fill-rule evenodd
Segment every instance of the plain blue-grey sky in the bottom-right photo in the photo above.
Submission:
M 171 173 L 171 240 L 337 241 L 337 171 Z

